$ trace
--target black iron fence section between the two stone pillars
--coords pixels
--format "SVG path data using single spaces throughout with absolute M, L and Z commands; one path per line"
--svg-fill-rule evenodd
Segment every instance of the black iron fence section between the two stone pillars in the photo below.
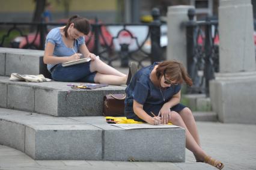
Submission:
M 206 93 L 209 96 L 209 81 L 219 72 L 218 20 L 195 21 L 195 10 L 189 9 L 186 26 L 187 71 L 193 87 L 187 93 Z

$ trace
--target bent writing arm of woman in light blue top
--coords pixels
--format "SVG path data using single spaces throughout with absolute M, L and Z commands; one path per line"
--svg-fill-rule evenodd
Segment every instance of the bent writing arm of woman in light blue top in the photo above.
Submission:
M 55 45 L 50 42 L 46 44 L 46 47 L 44 50 L 44 56 L 43 56 L 44 64 L 59 64 L 62 62 L 73 61 L 80 58 L 80 55 L 78 53 L 75 53 L 72 56 L 62 56 L 62 57 L 53 56 L 54 47 Z

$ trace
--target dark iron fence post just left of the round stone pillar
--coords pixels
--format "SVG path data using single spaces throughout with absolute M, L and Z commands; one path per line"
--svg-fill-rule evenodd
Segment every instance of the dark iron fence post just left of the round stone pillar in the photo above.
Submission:
M 163 60 L 163 52 L 160 46 L 160 11 L 158 8 L 153 8 L 151 11 L 151 14 L 153 16 L 153 22 L 151 22 L 150 25 L 150 38 L 151 38 L 151 64 L 153 64 L 156 61 L 162 61 Z

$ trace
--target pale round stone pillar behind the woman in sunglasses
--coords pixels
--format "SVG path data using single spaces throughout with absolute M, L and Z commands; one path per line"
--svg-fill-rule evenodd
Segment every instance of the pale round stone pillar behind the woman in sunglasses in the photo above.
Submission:
M 168 7 L 167 24 L 168 24 L 168 46 L 167 59 L 176 59 L 181 61 L 186 67 L 186 28 L 181 27 L 182 22 L 186 22 L 187 10 L 195 8 L 190 5 L 177 5 Z

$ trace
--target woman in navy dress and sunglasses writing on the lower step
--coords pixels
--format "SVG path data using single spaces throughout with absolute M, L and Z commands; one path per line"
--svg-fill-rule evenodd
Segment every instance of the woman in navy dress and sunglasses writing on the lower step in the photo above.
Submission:
M 186 148 L 194 153 L 197 162 L 206 162 L 222 169 L 224 164 L 207 156 L 200 147 L 192 112 L 180 104 L 183 81 L 192 85 L 185 68 L 177 61 L 155 62 L 142 68 L 126 88 L 126 117 L 152 125 L 172 123 L 183 127 L 186 132 Z

